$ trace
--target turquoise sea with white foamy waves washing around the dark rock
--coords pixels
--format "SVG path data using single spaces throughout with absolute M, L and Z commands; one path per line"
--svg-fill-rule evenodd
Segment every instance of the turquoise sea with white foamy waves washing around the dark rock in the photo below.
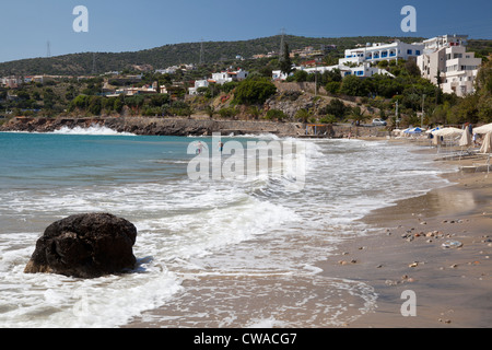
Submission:
M 448 185 L 440 177 L 448 170 L 409 143 L 221 140 L 296 147 L 279 162 L 272 152 L 244 153 L 269 158 L 268 172 L 197 178 L 197 156 L 230 166 L 233 152 L 218 152 L 211 137 L 98 126 L 1 132 L 0 327 L 337 327 L 374 311 L 378 295 L 318 264 L 344 240 L 372 234 L 360 220 L 372 210 Z M 133 270 L 96 279 L 23 272 L 49 224 L 86 212 L 136 225 Z

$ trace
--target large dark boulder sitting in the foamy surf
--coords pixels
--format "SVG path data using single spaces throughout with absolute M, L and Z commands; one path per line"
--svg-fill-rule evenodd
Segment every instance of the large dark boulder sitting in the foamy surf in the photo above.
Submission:
M 24 272 L 96 278 L 132 269 L 137 229 L 107 213 L 72 215 L 49 225 Z

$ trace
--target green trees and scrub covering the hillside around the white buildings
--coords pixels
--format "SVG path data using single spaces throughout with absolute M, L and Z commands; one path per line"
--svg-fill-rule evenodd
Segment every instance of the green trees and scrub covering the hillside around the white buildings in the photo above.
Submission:
M 345 48 L 366 42 L 380 42 L 388 38 L 304 38 L 286 36 L 286 49 L 304 48 L 307 45 L 337 45 L 337 49 L 328 50 L 321 59 L 325 63 L 338 60 Z M 403 38 L 401 38 L 403 39 Z M 415 38 L 407 38 L 414 42 Z M 470 40 L 471 47 L 489 55 L 490 40 Z M 195 46 L 194 46 L 195 45 Z M 393 126 L 396 121 L 396 107 L 400 126 L 420 125 L 420 113 L 425 112 L 424 124 L 461 124 L 492 121 L 492 60 L 484 59 L 477 79 L 477 92 L 465 98 L 443 94 L 442 90 L 421 78 L 419 68 L 411 61 L 382 61 L 385 68 L 395 75 L 374 75 L 360 79 L 353 75 L 342 78 L 335 70 L 323 74 L 308 74 L 295 71 L 288 82 L 316 82 L 320 95 L 292 92 L 279 93 L 271 82 L 272 70 L 282 70 L 282 61 L 278 56 L 257 59 L 235 58 L 236 55 L 249 57 L 254 54 L 266 54 L 280 48 L 280 37 L 233 43 L 204 43 L 210 50 L 207 62 L 192 70 L 177 69 L 174 73 L 144 72 L 142 79 L 133 79 L 134 65 L 152 65 L 163 68 L 178 61 L 187 61 L 179 57 L 188 57 L 190 61 L 199 49 L 196 44 L 168 45 L 161 48 L 122 54 L 98 54 L 97 65 L 107 65 L 104 71 L 121 70 L 127 75 L 97 75 L 89 79 L 61 78 L 45 83 L 24 83 L 17 89 L 0 89 L 1 110 L 12 110 L 14 116 L 186 116 L 202 115 L 221 118 L 267 118 L 276 120 L 298 120 L 337 122 L 380 117 L 388 119 Z M 214 49 L 212 49 L 214 48 Z M 173 52 L 173 54 L 169 54 Z M 213 55 L 212 55 L 213 52 Z M 87 56 L 89 55 L 89 56 Z M 187 56 L 189 55 L 189 56 Z M 86 73 L 92 69 L 92 54 L 69 55 L 51 59 L 24 60 L 1 63 L 1 69 L 10 67 L 13 71 L 45 70 L 44 72 L 69 74 Z M 104 58 L 104 59 L 103 59 Z M 167 61 L 168 59 L 168 61 Z M 302 60 L 292 58 L 294 63 Z M 70 65 L 68 65 L 70 62 Z M 9 66 L 10 65 L 10 66 Z M 159 65 L 159 66 L 157 66 Z M 38 67 L 38 68 L 35 68 Z M 198 95 L 187 95 L 188 88 L 195 80 L 210 77 L 212 72 L 238 68 L 249 71 L 249 78 L 243 82 L 230 82 L 224 85 L 211 83 L 200 88 Z M 50 71 L 51 70 L 51 71 Z M 39 71 L 36 71 L 39 72 Z M 4 73 L 3 73 L 4 74 Z M 1 75 L 1 74 L 0 74 Z M 105 86 L 113 90 L 125 86 L 143 86 L 156 82 L 165 85 L 166 94 L 141 94 L 133 96 L 119 95 L 105 97 Z M 305 96 L 306 101 L 302 98 Z M 336 97 L 335 100 L 332 97 Z M 295 113 L 267 107 L 269 100 L 278 100 L 293 105 Z M 320 104 L 319 98 L 326 100 Z M 304 101 L 300 103 L 298 101 Z

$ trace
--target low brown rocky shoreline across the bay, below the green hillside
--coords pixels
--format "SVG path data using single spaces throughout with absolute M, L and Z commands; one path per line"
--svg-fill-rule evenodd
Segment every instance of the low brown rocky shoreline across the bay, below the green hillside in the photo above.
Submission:
M 58 117 L 27 118 L 15 117 L 0 125 L 0 132 L 54 132 L 62 128 L 106 127 L 116 132 L 137 136 L 212 136 L 223 135 L 265 135 L 292 138 L 383 138 L 390 135 L 379 127 L 351 125 L 311 125 L 303 122 L 282 122 L 271 120 L 230 120 L 210 118 L 178 117 Z

